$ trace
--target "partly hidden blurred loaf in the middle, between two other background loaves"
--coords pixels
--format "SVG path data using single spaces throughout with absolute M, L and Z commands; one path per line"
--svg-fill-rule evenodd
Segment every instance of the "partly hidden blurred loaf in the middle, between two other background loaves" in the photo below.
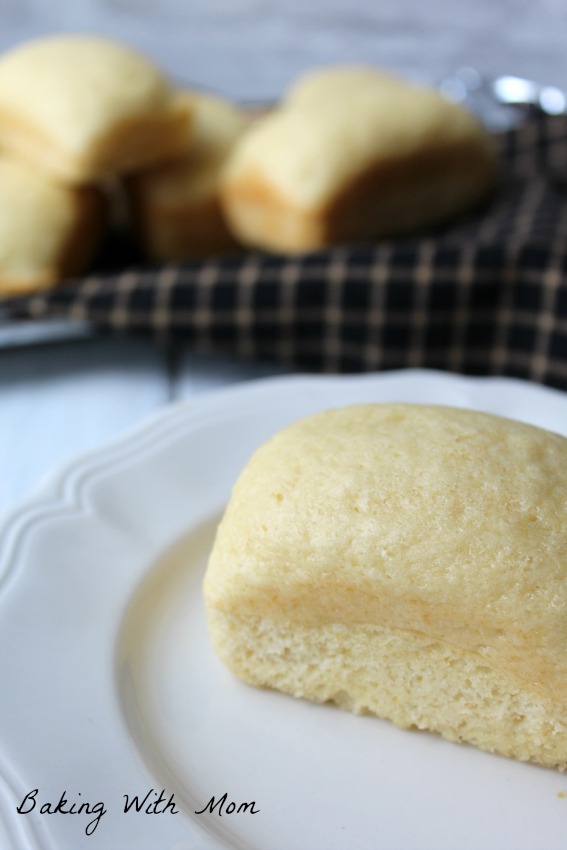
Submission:
M 183 261 L 233 250 L 237 243 L 220 206 L 225 160 L 250 123 L 230 101 L 188 93 L 193 135 L 179 157 L 133 174 L 127 181 L 132 220 L 149 256 Z

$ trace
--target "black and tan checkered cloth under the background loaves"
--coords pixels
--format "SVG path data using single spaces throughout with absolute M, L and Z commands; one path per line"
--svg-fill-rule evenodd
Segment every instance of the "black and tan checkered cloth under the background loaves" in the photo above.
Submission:
M 5 306 L 310 371 L 429 367 L 567 389 L 567 117 L 534 111 L 496 143 L 492 204 L 434 234 L 134 265 Z

